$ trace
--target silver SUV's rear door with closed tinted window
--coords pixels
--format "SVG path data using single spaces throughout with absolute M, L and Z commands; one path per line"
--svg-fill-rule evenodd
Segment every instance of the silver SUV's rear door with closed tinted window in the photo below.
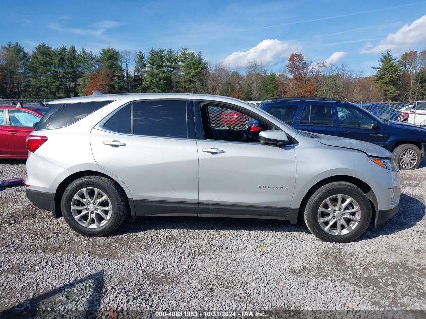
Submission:
M 190 107 L 188 107 L 190 108 Z M 128 104 L 90 134 L 96 163 L 129 188 L 137 215 L 197 215 L 198 157 L 184 100 Z

